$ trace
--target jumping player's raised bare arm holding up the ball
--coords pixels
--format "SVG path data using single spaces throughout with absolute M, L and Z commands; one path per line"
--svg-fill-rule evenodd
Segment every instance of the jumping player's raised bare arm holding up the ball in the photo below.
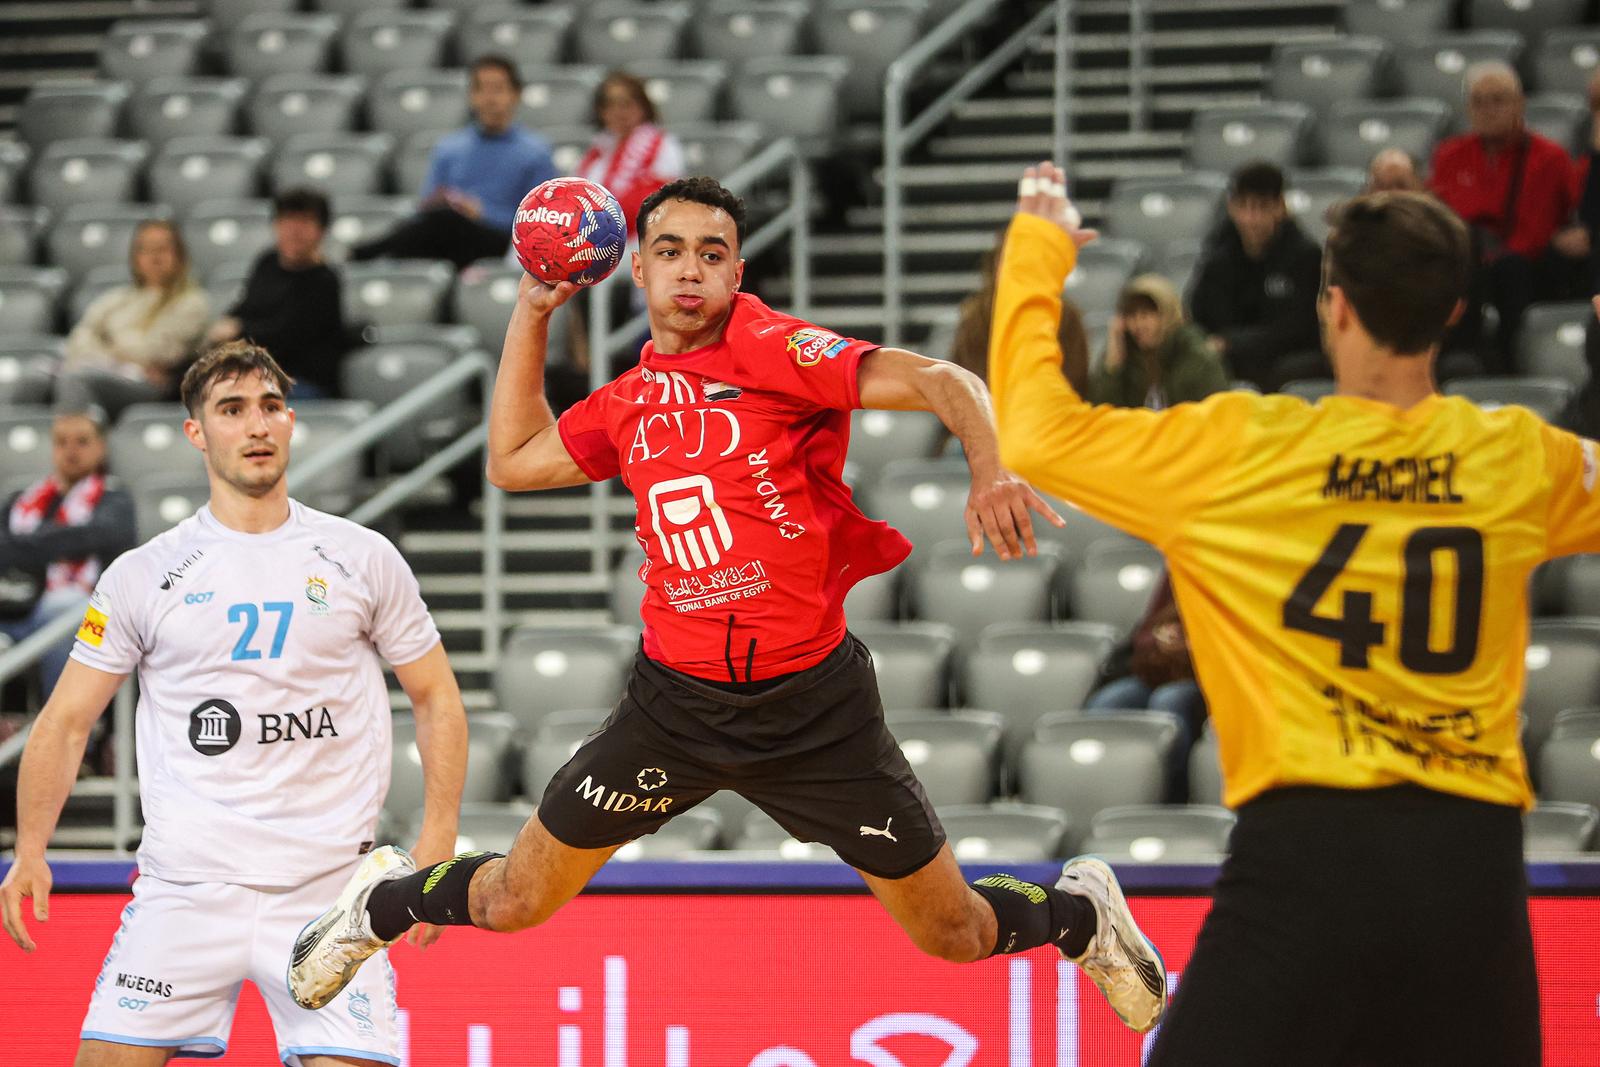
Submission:
M 555 490 L 589 482 L 562 443 L 555 413 L 544 398 L 550 314 L 576 291 L 568 282 L 550 286 L 522 277 L 490 405 L 488 475 L 502 490 Z

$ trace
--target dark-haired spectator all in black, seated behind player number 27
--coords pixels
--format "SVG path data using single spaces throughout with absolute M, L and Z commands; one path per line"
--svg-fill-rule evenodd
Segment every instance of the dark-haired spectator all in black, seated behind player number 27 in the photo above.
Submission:
M 315 189 L 286 189 L 272 202 L 274 248 L 250 269 L 245 293 L 206 333 L 206 341 L 248 339 L 294 378 L 298 398 L 331 397 L 339 358 L 350 347 L 339 274 L 323 262 L 328 198 Z

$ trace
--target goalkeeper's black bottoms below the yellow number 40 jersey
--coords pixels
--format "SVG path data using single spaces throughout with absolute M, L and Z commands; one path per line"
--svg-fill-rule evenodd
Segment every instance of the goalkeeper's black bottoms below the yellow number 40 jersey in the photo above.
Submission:
M 1539 1067 L 1522 813 L 1413 785 L 1246 803 L 1149 1067 Z

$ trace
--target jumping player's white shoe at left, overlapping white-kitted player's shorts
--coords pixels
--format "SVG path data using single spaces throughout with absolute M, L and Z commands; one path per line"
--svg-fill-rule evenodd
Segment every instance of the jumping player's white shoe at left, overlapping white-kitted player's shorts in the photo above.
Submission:
M 344 883 L 339 899 L 306 923 L 290 953 L 290 997 L 301 1008 L 322 1008 L 350 984 L 362 963 L 400 937 L 384 941 L 366 921 L 366 897 L 379 881 L 416 872 L 411 857 L 392 845 L 374 848 Z M 403 936 L 403 934 L 402 934 Z

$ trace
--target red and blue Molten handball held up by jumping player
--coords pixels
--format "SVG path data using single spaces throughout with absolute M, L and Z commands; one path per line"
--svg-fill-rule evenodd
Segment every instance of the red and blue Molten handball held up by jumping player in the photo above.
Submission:
M 546 285 L 597 285 L 622 262 L 627 219 L 605 186 L 582 178 L 539 182 L 517 205 L 510 246 Z

